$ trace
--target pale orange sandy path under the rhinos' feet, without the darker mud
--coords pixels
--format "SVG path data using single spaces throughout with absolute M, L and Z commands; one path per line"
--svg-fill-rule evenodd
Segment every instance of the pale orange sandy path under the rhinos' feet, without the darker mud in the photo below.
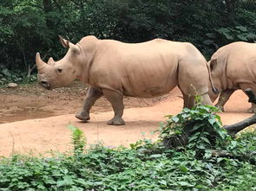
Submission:
M 107 146 L 128 146 L 141 138 L 153 138 L 152 131 L 165 120 L 164 116 L 181 111 L 181 92 L 174 89 L 167 99 L 149 107 L 128 108 L 124 111 L 125 126 L 109 126 L 113 111 L 91 114 L 89 123 L 80 123 L 74 116 L 66 114 L 50 118 L 36 118 L 0 124 L 0 156 L 12 153 L 43 153 L 47 151 L 69 151 L 71 132 L 67 125 L 79 127 L 88 139 L 88 144 L 102 142 Z M 226 112 L 220 113 L 223 124 L 233 124 L 252 116 L 246 113 L 250 107 L 246 95 L 237 91 L 226 104 Z M 254 128 L 254 127 L 251 127 Z

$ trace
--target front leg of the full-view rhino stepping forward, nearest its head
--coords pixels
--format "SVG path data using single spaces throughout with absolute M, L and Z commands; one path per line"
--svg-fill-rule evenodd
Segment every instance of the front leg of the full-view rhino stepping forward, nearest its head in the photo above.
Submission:
M 94 87 L 89 86 L 89 90 L 86 94 L 86 97 L 84 99 L 84 104 L 82 107 L 82 111 L 80 111 L 79 113 L 77 113 L 75 115 L 75 118 L 78 118 L 84 122 L 88 121 L 89 118 L 89 110 L 92 107 L 92 105 L 95 104 L 95 101 L 99 98 L 101 98 L 103 95 L 102 92 L 100 92 L 99 90 L 95 89 Z

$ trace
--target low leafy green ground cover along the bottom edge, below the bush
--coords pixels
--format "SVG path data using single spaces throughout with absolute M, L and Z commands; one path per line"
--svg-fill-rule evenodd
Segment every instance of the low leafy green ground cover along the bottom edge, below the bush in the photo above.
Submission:
M 256 132 L 237 140 L 256 149 Z M 253 142 L 251 142 L 253 138 Z M 160 153 L 158 143 L 133 149 L 95 145 L 77 156 L 12 156 L 0 162 L 1 190 L 255 190 L 256 166 L 227 157 L 197 158 L 194 150 Z

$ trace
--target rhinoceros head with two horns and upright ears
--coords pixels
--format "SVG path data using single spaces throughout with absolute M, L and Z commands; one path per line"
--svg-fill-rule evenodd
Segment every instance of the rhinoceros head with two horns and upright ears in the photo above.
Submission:
M 59 37 L 62 46 L 69 48 L 69 51 L 62 60 L 55 61 L 53 58 L 49 58 L 48 62 L 45 63 L 40 58 L 40 54 L 36 53 L 37 80 L 46 89 L 68 86 L 81 73 L 79 63 L 82 49 L 78 45 L 63 39 L 62 36 Z

